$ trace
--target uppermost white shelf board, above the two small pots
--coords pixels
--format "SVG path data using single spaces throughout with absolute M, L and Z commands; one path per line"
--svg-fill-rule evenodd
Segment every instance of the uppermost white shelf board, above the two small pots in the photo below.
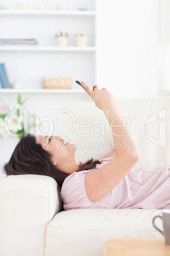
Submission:
M 56 15 L 56 16 L 88 16 L 95 17 L 96 11 L 39 11 L 39 10 L 0 10 L 0 15 Z

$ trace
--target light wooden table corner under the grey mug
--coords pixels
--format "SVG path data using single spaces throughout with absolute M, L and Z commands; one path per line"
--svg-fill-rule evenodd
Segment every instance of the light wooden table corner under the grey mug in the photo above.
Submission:
M 170 256 L 164 238 L 119 238 L 103 246 L 104 256 Z

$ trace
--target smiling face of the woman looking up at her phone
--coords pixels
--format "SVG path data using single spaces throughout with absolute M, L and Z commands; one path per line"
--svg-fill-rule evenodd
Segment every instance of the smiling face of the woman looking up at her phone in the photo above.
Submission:
M 76 145 L 64 142 L 59 135 L 56 136 L 42 136 L 37 135 L 36 141 L 42 148 L 52 155 L 51 161 L 57 166 L 61 161 L 65 159 L 71 159 L 74 156 Z

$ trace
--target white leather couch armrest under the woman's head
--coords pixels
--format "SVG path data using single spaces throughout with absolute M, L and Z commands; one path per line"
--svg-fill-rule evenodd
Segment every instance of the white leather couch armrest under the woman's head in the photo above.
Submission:
M 0 255 L 44 256 L 46 226 L 60 210 L 56 181 L 8 176 L 0 183 Z

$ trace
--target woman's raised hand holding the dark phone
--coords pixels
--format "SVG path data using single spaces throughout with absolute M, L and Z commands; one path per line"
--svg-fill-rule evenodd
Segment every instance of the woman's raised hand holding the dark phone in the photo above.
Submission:
M 83 86 L 84 90 L 89 94 L 89 96 L 95 101 L 95 105 L 100 110 L 105 110 L 110 106 L 114 106 L 116 108 L 114 96 L 112 96 L 111 92 L 103 89 L 98 89 L 97 85 L 93 86 L 93 90 L 86 85 L 86 83 L 80 81 L 81 85 Z

